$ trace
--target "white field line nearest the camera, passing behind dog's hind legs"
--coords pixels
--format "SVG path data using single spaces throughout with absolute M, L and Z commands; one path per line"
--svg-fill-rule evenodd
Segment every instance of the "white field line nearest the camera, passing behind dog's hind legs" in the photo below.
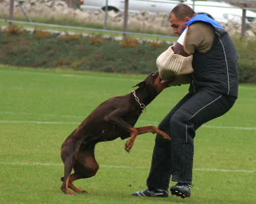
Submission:
M 40 162 L 0 162 L 0 164 L 5 165 L 38 165 L 38 166 L 63 166 L 60 163 L 40 163 Z M 115 165 L 104 165 L 101 164 L 101 167 L 105 168 L 125 168 L 125 169 L 150 169 L 150 167 L 142 167 L 142 166 L 115 166 Z M 194 171 L 221 171 L 221 172 L 256 172 L 256 170 L 242 170 L 242 169 L 208 169 L 208 168 L 195 168 Z

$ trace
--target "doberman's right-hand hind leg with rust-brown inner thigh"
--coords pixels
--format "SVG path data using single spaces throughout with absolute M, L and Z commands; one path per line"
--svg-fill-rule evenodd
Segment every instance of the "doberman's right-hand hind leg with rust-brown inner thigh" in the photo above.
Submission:
M 74 164 L 74 173 L 69 178 L 69 188 L 75 192 L 87 193 L 86 190 L 81 190 L 73 185 L 73 182 L 78 179 L 86 179 L 96 174 L 99 165 L 94 157 L 94 147 L 81 145 L 78 151 L 77 158 Z

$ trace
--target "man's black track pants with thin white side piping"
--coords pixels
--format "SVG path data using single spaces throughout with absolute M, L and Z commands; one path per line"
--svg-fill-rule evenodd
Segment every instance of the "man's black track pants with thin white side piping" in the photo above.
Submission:
M 172 181 L 191 184 L 195 131 L 225 114 L 236 99 L 207 90 L 184 96 L 159 124 L 172 140 L 166 142 L 156 136 L 147 186 L 168 189 L 170 175 Z

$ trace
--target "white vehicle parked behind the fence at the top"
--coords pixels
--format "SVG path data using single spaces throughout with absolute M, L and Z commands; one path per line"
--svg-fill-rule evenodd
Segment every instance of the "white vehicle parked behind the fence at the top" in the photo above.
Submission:
M 148 11 L 150 13 L 169 12 L 177 4 L 186 4 L 194 9 L 196 13 L 206 13 L 217 21 L 226 22 L 232 19 L 241 22 L 242 9 L 231 6 L 225 2 L 195 1 L 193 6 L 192 0 L 173 1 L 173 0 L 129 0 L 129 12 Z M 80 8 L 83 11 L 105 10 L 106 0 L 81 0 Z M 124 0 L 108 0 L 108 10 L 115 12 L 124 11 Z M 250 10 L 246 11 L 247 21 L 256 19 L 256 13 Z

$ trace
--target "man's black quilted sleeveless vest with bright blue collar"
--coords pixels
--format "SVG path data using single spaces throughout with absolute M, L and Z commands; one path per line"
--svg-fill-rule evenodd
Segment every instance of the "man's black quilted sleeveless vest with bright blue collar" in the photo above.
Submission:
M 206 14 L 197 14 L 185 26 L 195 21 L 210 23 L 215 29 L 212 47 L 206 52 L 198 50 L 193 55 L 194 72 L 189 92 L 211 90 L 223 95 L 238 96 L 238 54 L 236 47 L 223 27 Z

